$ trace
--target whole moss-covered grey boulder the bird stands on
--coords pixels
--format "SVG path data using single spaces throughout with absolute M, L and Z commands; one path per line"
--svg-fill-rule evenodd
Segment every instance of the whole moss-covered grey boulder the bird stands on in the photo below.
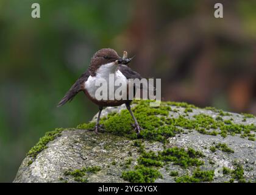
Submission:
M 46 133 L 13 182 L 255 182 L 253 115 L 178 102 L 134 101 L 132 110 L 140 136 L 124 105 L 107 107 L 105 132 L 91 131 L 94 116 Z

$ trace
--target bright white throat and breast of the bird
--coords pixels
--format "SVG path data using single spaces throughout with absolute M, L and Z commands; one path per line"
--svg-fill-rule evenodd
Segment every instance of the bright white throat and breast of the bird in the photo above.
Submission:
M 114 88 L 114 91 L 118 88 L 118 86 L 113 86 L 115 82 L 110 82 L 110 80 L 109 80 L 110 74 L 113 74 L 114 81 L 116 79 L 121 79 L 122 82 L 127 84 L 128 81 L 127 81 L 126 77 L 123 75 L 123 73 L 121 73 L 121 71 L 117 70 L 117 68 L 118 68 L 118 66 L 115 65 L 114 62 L 107 63 L 105 65 L 102 65 L 96 71 L 96 76 L 88 77 L 88 79 L 84 83 L 84 85 L 85 85 L 85 89 L 88 91 L 88 93 L 90 94 L 90 96 L 92 98 L 95 98 L 95 92 L 99 88 L 98 86 L 96 86 L 96 80 L 105 79 L 107 81 L 107 86 L 108 86 L 107 93 L 109 93 L 109 88 L 111 88 L 111 87 Z M 109 97 L 109 94 L 107 97 Z

